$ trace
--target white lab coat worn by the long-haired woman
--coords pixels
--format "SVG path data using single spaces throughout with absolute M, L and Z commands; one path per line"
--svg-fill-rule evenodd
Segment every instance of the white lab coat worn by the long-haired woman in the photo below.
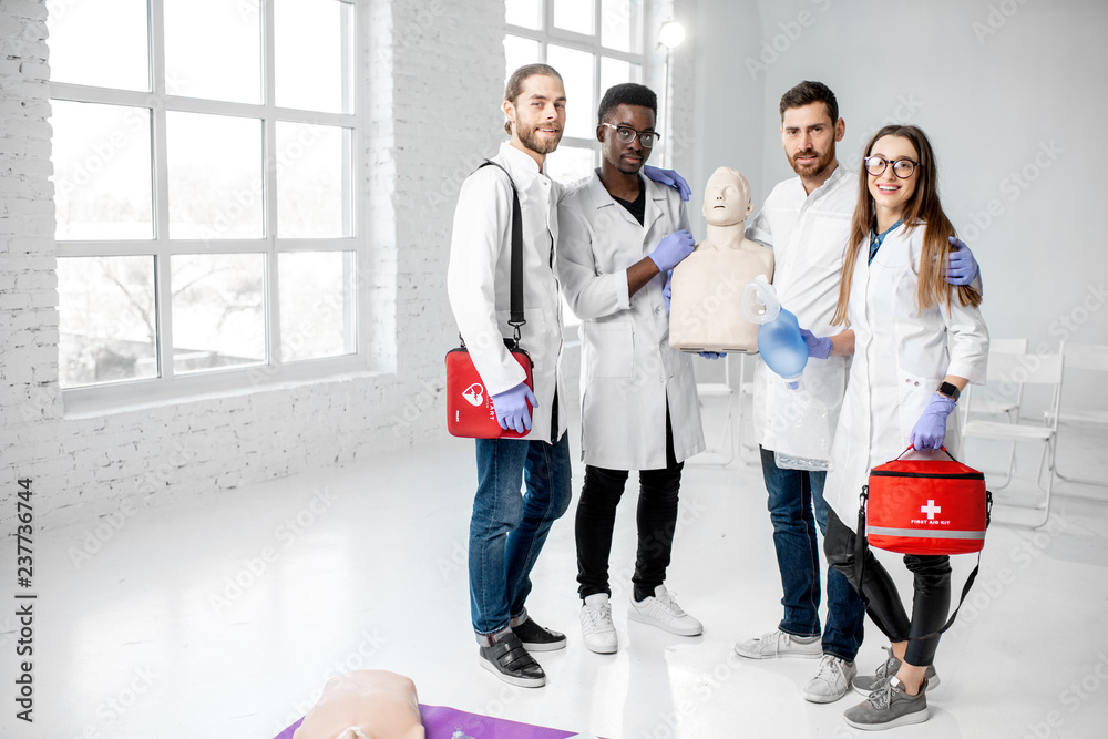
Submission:
M 868 244 L 858 255 L 851 281 L 848 319 L 854 329 L 854 359 L 847 382 L 832 468 L 823 496 L 839 519 L 858 526 L 858 503 L 870 469 L 903 452 L 912 428 L 947 374 L 973 384 L 985 381 L 988 330 L 977 308 L 951 292 L 951 312 L 932 306 L 920 314 L 915 304 L 924 226 L 906 226 L 885 236 L 870 265 Z M 962 454 L 958 413 L 946 419 L 943 442 Z M 933 452 L 946 459 L 941 452 Z

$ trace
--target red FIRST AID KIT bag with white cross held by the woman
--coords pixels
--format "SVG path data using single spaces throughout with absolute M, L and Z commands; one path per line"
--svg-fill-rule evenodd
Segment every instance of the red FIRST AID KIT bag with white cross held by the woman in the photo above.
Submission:
M 871 546 L 900 554 L 967 554 L 985 546 L 993 504 L 985 475 L 942 449 L 950 460 L 897 456 L 870 470 L 862 506 Z

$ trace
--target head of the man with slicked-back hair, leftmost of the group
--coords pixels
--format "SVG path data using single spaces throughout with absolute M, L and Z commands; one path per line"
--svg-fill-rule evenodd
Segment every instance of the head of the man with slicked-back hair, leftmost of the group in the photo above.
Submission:
M 507 80 L 503 109 L 512 145 L 537 155 L 541 163 L 557 148 L 565 129 L 562 75 L 548 64 L 521 66 Z

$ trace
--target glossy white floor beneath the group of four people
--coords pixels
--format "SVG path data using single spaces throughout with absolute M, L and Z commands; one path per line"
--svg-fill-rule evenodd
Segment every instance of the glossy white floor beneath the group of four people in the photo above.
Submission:
M 1063 469 L 1105 479 L 1105 441 L 1067 430 Z M 1029 475 L 1034 464 L 1024 466 Z M 534 574 L 532 613 L 570 636 L 566 649 L 540 655 L 548 685 L 538 690 L 478 666 L 464 567 L 473 480 L 472 444 L 449 440 L 40 533 L 35 722 L 13 719 L 18 636 L 4 608 L 0 735 L 271 739 L 331 675 L 382 668 L 410 676 L 423 702 L 602 737 L 853 736 L 841 714 L 861 697 L 803 700 L 814 661 L 749 661 L 732 651 L 780 618 L 757 466 L 691 465 L 685 476 L 668 583 L 705 623 L 702 637 L 626 618 L 632 494 L 613 557 L 620 649 L 585 650 L 571 509 Z M 579 481 L 575 471 L 575 493 Z M 1108 489 L 1060 483 L 1056 492 L 1050 527 L 991 530 L 982 576 L 938 653 L 932 718 L 894 736 L 1106 736 Z M 4 546 L 13 562 L 11 540 Z M 964 576 L 972 560 L 958 560 Z M 863 671 L 879 664 L 881 645 L 868 624 Z

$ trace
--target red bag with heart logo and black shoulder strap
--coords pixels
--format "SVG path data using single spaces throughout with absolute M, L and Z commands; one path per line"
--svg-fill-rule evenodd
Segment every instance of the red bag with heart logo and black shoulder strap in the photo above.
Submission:
M 531 355 L 520 348 L 520 328 L 527 322 L 523 317 L 523 213 L 520 208 L 520 194 L 507 170 L 490 160 L 484 161 L 481 167 L 484 166 L 501 170 L 512 184 L 511 317 L 507 322 L 515 329 L 515 338 L 504 339 L 504 343 L 512 352 L 513 359 L 520 362 L 526 372 L 524 382 L 533 392 L 534 366 Z M 529 401 L 527 413 L 532 411 Z M 496 410 L 492 404 L 492 396 L 473 366 L 473 358 L 470 357 L 464 340 L 460 347 L 447 352 L 447 431 L 451 435 L 465 439 L 519 439 L 530 433 L 530 431 L 520 433 L 514 429 L 501 428 L 496 420 Z

